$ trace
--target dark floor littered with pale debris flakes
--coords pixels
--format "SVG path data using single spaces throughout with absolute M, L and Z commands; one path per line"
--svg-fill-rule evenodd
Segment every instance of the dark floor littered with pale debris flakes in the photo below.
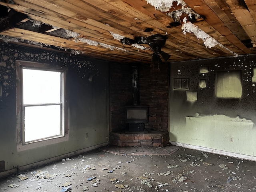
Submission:
M 172 145 L 109 146 L 2 178 L 0 191 L 250 192 L 256 191 L 255 167 L 253 161 Z

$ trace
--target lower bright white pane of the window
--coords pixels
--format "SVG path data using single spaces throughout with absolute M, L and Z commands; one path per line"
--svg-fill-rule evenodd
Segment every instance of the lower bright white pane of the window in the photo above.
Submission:
M 61 135 L 60 105 L 25 107 L 25 142 Z

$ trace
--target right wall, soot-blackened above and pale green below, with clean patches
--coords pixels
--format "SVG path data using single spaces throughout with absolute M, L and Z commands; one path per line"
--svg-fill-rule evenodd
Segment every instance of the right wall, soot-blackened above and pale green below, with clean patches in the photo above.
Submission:
M 171 63 L 170 140 L 256 156 L 256 56 Z

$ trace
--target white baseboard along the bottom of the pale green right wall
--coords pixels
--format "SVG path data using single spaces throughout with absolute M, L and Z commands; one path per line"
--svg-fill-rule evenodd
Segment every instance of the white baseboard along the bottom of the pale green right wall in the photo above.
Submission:
M 184 143 L 179 143 L 179 142 L 174 142 L 174 141 L 169 141 L 169 142 L 172 145 L 181 146 L 181 147 L 184 147 L 184 148 L 189 148 L 189 149 L 194 149 L 194 150 L 199 150 L 199 151 L 204 151 L 204 152 L 210 152 L 210 153 L 219 154 L 219 155 L 225 155 L 225 156 L 230 156 L 230 157 L 235 157 L 235 158 L 241 158 L 241 159 L 256 161 L 256 156 L 250 156 L 250 155 L 238 154 L 238 153 L 233 153 L 233 152 L 227 152 L 227 151 L 222 151 L 222 150 L 217 150 L 217 149 L 212 149 L 212 148 L 206 148 L 206 147 L 201 147 L 201 146 L 195 146 L 195 145 L 190 145 L 190 144 L 184 144 Z

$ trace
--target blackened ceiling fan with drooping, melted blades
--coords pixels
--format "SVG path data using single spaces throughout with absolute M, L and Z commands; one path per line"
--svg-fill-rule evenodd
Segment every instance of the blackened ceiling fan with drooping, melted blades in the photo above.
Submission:
M 159 64 L 162 63 L 160 56 L 162 56 L 164 61 L 167 61 L 170 58 L 169 54 L 161 51 L 161 48 L 164 47 L 166 39 L 167 38 L 164 35 L 154 34 L 146 38 L 136 37 L 134 40 L 130 38 L 124 38 L 121 40 L 121 42 L 122 44 L 148 44 L 153 51 L 153 54 L 151 57 L 151 65 L 154 66 L 155 64 L 157 64 L 159 67 Z

